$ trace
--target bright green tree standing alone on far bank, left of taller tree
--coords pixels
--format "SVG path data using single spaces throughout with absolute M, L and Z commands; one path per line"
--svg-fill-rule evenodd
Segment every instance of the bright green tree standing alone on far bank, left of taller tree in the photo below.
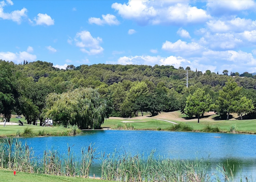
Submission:
M 189 117 L 196 116 L 198 117 L 198 123 L 200 116 L 209 111 L 211 99 L 209 94 L 205 95 L 203 89 L 198 88 L 195 90 L 193 95 L 189 95 L 186 101 L 186 107 L 184 109 L 185 114 Z

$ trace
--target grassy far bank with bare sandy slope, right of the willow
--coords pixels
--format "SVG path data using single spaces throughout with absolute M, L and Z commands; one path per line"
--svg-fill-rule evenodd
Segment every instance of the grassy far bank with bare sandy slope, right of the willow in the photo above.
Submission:
M 117 126 L 123 125 L 125 129 L 126 125 L 132 125 L 133 129 L 139 130 L 173 130 L 173 131 L 199 131 L 199 132 L 231 132 L 231 128 L 235 128 L 235 133 L 250 133 L 256 134 L 256 119 L 238 120 L 232 118 L 230 120 L 216 120 L 216 114 L 209 114 L 200 119 L 198 123 L 197 118 L 187 118 L 186 115 L 181 114 L 180 111 L 161 113 L 154 117 L 135 117 L 130 119 L 125 118 L 111 118 L 106 119 L 102 127 L 110 127 L 112 129 L 118 129 Z M 156 120 L 155 118 L 161 118 L 180 124 L 175 126 L 171 123 L 164 122 L 162 120 Z M 120 127 L 119 127 L 120 128 Z M 121 128 L 122 129 L 122 128 Z

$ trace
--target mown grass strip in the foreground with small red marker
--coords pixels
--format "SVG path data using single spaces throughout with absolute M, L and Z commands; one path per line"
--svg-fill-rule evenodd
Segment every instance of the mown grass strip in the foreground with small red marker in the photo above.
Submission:
M 55 175 L 44 175 L 44 174 L 30 174 L 17 172 L 16 176 L 13 175 L 13 171 L 8 171 L 0 169 L 0 176 L 2 182 L 7 181 L 19 181 L 19 182 L 37 182 L 37 181 L 47 181 L 47 182 L 107 182 L 108 180 L 100 179 L 86 179 L 78 177 L 66 177 L 66 176 L 55 176 Z

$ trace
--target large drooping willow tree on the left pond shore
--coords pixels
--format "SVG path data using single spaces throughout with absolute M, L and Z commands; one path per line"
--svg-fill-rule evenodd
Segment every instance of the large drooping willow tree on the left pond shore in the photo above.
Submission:
M 104 122 L 106 101 L 97 90 L 77 88 L 63 94 L 49 94 L 46 99 L 46 117 L 67 126 L 78 125 L 81 129 L 98 129 Z

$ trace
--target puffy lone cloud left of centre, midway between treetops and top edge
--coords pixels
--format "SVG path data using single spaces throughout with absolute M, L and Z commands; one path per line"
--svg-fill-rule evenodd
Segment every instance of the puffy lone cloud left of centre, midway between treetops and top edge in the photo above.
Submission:
M 88 31 L 82 31 L 77 33 L 74 38 L 76 46 L 81 48 L 82 52 L 88 55 L 96 55 L 103 52 L 103 48 L 100 46 L 102 39 L 100 37 L 94 38 Z M 88 49 L 85 49 L 88 48 Z

